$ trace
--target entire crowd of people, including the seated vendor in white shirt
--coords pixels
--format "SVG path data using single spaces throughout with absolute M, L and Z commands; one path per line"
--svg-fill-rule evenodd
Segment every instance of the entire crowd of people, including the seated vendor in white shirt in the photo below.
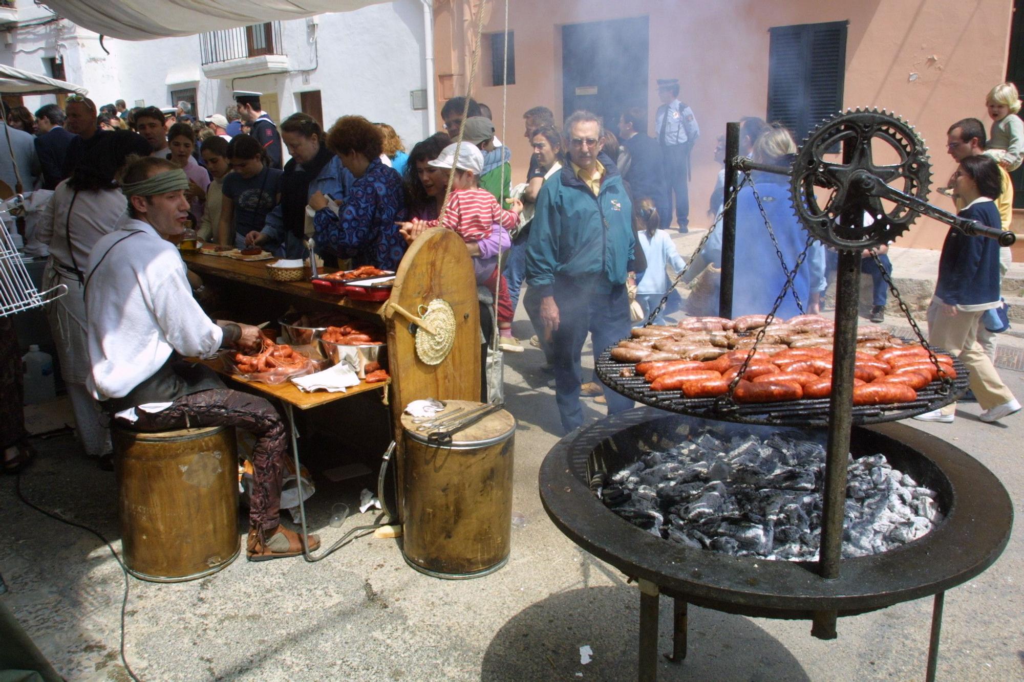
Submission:
M 1006 229 L 1012 217 L 1007 171 L 1020 164 L 1024 127 L 1015 116 L 1016 90 L 1000 88 L 990 95 L 992 135 L 986 139 L 980 121 L 965 119 L 950 127 L 947 148 L 959 164 L 950 183 L 961 215 Z M 554 376 L 564 431 L 583 423 L 581 396 L 605 402 L 609 413 L 630 408 L 629 398 L 583 371 L 581 354 L 588 336 L 596 355 L 629 336 L 631 326 L 652 314 L 663 322 L 679 309 L 659 308 L 671 293 L 669 271 L 686 266 L 668 228 L 675 211 L 679 229 L 687 229 L 689 154 L 699 129 L 679 100 L 677 81 L 658 81 L 658 95 L 653 136 L 641 108 L 622 113 L 617 137 L 589 112 L 570 113 L 558 126 L 550 109 L 527 110 L 523 134 L 532 155 L 518 183 L 489 111 L 466 97 L 443 105 L 444 132 L 408 153 L 391 126 L 361 116 L 343 116 L 328 130 L 301 113 L 278 125 L 262 111 L 258 92 L 234 92 L 236 104 L 225 115 L 203 121 L 188 102 L 127 110 L 118 100 L 97 110 L 81 95 L 69 96 L 63 110 L 47 104 L 35 116 L 11 110 L 14 163 L 0 158 L 0 179 L 52 191 L 39 228 L 28 237 L 48 251 L 46 286 L 69 290 L 47 314 L 83 449 L 101 462 L 109 459 L 104 413 L 141 429 L 248 429 L 257 437 L 250 558 L 293 556 L 303 543 L 316 542 L 279 522 L 286 445 L 273 407 L 177 361 L 227 345 L 251 348 L 259 339 L 255 328 L 215 323 L 203 311 L 197 300 L 202 283 L 169 244 L 185 229 L 204 241 L 259 246 L 284 258 L 309 257 L 312 238 L 328 265 L 395 269 L 421 233 L 450 228 L 473 259 L 481 364 L 494 328 L 499 347 L 522 350 L 512 334 L 521 300 L 536 332 L 530 343 L 543 350 L 544 369 Z M 791 131 L 753 117 L 742 120 L 740 138 L 740 153 L 761 164 L 787 165 L 797 152 Z M 717 154 L 722 160 L 721 144 Z M 776 250 L 791 268 L 806 251 L 777 314 L 816 312 L 830 256 L 822 245 L 808 243 L 784 177 L 755 173 L 753 179 L 735 199 L 735 257 L 743 267 L 735 275 L 733 313 L 772 309 L 786 280 Z M 719 213 L 724 201 L 720 175 L 711 212 Z M 699 296 L 694 288 L 691 314 L 717 311 L 720 235 L 715 230 L 689 268 L 691 279 L 709 281 L 711 292 Z M 877 285 L 872 318 L 885 305 L 882 273 L 891 271 L 884 248 L 879 255 L 881 270 L 864 259 Z M 951 229 L 928 314 L 932 342 L 970 368 L 983 421 L 1020 409 L 992 367 L 992 328 L 986 325 L 998 307 L 1008 256 L 991 240 Z M 709 301 L 716 301 L 714 309 L 699 309 Z M 6 365 L 0 369 L 6 389 L 15 378 Z M 4 415 L 16 419 L 11 410 Z M 951 421 L 952 408 L 923 418 Z M 5 468 L 16 470 L 28 459 L 24 429 L 5 427 L 4 434 Z

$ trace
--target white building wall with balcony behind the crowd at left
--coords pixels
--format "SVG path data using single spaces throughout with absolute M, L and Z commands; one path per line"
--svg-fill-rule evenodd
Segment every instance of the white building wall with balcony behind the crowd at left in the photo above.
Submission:
M 49 13 L 18 0 L 18 22 L 43 20 Z M 128 106 L 172 105 L 170 92 L 197 88 L 200 116 L 223 113 L 231 91 L 278 94 L 280 117 L 299 111 L 299 94 L 319 90 L 325 125 L 360 114 L 391 124 L 411 147 L 434 132 L 427 113 L 414 111 L 412 90 L 426 88 L 423 5 L 395 0 L 351 12 L 322 14 L 282 24 L 288 73 L 209 79 L 203 74 L 198 35 L 151 41 L 103 39 L 70 22 L 11 29 L 0 45 L 0 62 L 50 75 L 46 58 L 61 56 L 66 78 L 89 90 L 97 105 L 124 99 Z M 35 111 L 52 96 L 26 96 Z M 280 121 L 279 121 L 280 122 Z

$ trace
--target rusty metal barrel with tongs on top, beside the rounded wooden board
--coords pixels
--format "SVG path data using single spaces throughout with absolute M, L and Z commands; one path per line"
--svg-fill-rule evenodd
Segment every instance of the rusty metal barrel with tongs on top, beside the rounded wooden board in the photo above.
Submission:
M 480 403 L 449 400 L 447 410 Z M 515 418 L 501 410 L 459 431 L 447 444 L 429 441 L 402 415 L 402 554 L 422 573 L 459 580 L 498 570 L 512 535 Z

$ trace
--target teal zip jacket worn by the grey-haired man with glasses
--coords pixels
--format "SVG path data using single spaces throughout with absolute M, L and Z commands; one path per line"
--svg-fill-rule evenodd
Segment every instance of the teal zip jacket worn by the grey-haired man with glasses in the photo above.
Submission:
M 526 242 L 526 284 L 552 296 L 556 278 L 593 280 L 595 293 L 626 284 L 636 237 L 633 205 L 618 169 L 606 155 L 597 197 L 565 164 L 544 183 Z

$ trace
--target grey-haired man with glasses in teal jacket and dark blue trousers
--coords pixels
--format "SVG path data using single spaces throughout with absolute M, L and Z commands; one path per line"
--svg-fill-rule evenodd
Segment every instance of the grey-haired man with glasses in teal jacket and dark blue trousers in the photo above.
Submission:
M 626 279 L 636 240 L 622 176 L 602 153 L 601 119 L 577 112 L 564 130 L 570 163 L 537 198 L 526 241 L 526 283 L 541 297 L 542 333 L 552 339 L 555 400 L 567 433 L 583 424 L 580 354 L 587 334 L 595 359 L 630 335 Z M 609 414 L 633 407 L 607 388 L 604 395 Z

